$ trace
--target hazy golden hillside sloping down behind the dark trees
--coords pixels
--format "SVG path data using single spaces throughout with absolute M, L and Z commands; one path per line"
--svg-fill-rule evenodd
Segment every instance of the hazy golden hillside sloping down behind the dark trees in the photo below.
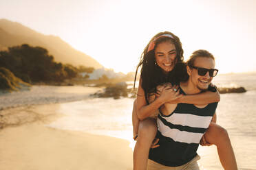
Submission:
M 46 36 L 20 23 L 0 19 L 0 50 L 24 43 L 47 49 L 56 62 L 90 66 L 95 69 L 103 67 L 94 58 L 72 48 L 58 36 Z

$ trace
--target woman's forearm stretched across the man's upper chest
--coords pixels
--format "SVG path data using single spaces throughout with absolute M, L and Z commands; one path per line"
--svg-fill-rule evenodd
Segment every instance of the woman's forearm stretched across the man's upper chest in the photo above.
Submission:
M 196 95 L 183 95 L 178 99 L 178 103 L 184 104 L 195 104 L 205 105 L 220 101 L 220 93 L 216 90 L 215 92 L 206 91 Z

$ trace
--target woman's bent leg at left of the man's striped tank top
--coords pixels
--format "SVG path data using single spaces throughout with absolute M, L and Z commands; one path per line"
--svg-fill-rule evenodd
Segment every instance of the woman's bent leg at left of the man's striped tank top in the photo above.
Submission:
M 138 125 L 138 138 L 134 147 L 134 170 L 146 170 L 149 149 L 156 137 L 156 120 L 147 118 Z

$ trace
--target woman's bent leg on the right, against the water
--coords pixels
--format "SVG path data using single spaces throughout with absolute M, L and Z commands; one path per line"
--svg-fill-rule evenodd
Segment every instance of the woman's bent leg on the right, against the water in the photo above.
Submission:
M 216 123 L 211 123 L 204 136 L 208 143 L 216 145 L 222 167 L 225 170 L 236 170 L 237 162 L 235 160 L 235 154 L 228 132 L 224 127 Z

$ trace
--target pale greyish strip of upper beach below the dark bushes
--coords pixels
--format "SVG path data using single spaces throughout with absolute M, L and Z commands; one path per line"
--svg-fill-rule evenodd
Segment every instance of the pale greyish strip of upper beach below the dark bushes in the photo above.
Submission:
M 89 95 L 101 89 L 87 86 L 34 85 L 30 90 L 21 89 L 12 93 L 0 93 L 0 111 L 23 106 L 80 101 L 89 99 Z

